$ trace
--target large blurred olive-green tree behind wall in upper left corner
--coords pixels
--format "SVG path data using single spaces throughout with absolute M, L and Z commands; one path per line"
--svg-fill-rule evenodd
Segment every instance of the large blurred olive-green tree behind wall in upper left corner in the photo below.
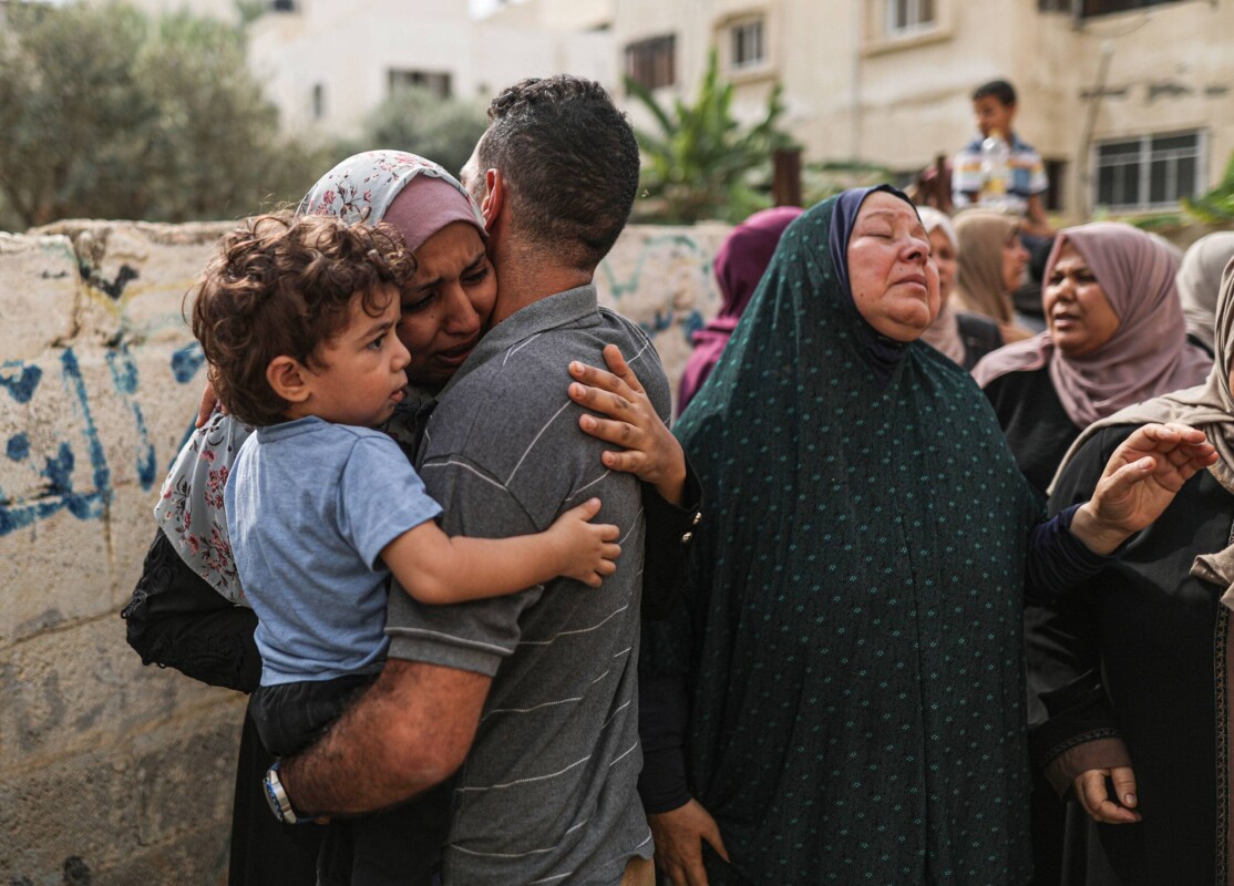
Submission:
M 6 223 L 236 217 L 299 199 L 325 168 L 279 137 L 236 26 L 123 4 L 9 4 L 5 17 Z

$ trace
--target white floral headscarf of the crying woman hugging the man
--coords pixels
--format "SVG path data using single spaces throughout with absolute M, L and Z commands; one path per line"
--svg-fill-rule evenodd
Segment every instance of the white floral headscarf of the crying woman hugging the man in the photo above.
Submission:
M 385 220 L 402 232 L 411 250 L 455 221 L 474 225 L 481 238 L 487 237 L 484 217 L 463 185 L 432 160 L 404 151 L 365 151 L 349 157 L 317 180 L 296 213 L 365 225 Z M 416 413 L 417 406 L 417 397 L 410 396 L 401 410 Z M 244 591 L 227 536 L 223 486 L 252 432 L 234 417 L 215 411 L 180 449 L 154 506 L 154 521 L 181 559 L 222 596 L 242 606 Z M 406 434 L 395 437 L 404 439 Z

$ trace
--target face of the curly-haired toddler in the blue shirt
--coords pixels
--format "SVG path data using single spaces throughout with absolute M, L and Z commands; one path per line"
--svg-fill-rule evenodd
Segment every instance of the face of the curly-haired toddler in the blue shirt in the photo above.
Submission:
M 365 313 L 360 296 L 352 297 L 347 326 L 320 346 L 306 368 L 310 396 L 300 413 L 336 424 L 375 427 L 394 412 L 407 385 L 407 349 L 395 334 L 399 290 L 383 288 L 385 308 Z

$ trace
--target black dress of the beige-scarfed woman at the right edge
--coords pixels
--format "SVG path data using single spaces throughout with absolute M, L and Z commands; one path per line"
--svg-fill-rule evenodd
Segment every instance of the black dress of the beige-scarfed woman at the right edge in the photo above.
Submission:
M 1067 466 L 1050 510 L 1083 501 L 1133 431 L 1098 432 Z M 1208 471 L 1182 487 L 1070 608 L 1029 624 L 1029 689 L 1046 717 L 1032 728 L 1041 765 L 1102 738 L 1127 745 L 1137 824 L 1096 824 L 1072 803 L 1066 886 L 1229 882 L 1230 611 L 1222 589 L 1190 575 L 1199 553 L 1234 537 L 1234 495 Z M 1072 776 L 1074 772 L 1066 772 Z

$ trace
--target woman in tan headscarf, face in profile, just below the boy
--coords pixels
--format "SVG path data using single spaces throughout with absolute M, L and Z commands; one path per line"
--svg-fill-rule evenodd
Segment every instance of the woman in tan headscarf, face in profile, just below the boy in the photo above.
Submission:
M 1028 250 L 1019 239 L 1019 222 L 991 210 L 969 210 L 955 217 L 959 269 L 955 301 L 961 311 L 981 313 L 998 323 L 1008 344 L 1033 333 L 1016 323 L 1011 294 L 1024 276 Z

